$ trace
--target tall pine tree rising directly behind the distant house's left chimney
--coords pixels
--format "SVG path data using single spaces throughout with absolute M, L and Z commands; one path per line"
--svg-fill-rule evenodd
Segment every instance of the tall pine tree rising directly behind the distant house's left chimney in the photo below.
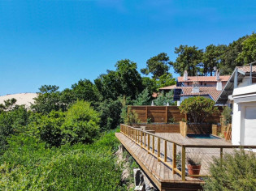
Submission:
M 200 72 L 202 67 L 203 50 L 196 46 L 180 45 L 175 48 L 178 55 L 176 62 L 170 62 L 176 73 L 183 75 L 184 70 L 188 71 L 189 76 L 194 76 Z

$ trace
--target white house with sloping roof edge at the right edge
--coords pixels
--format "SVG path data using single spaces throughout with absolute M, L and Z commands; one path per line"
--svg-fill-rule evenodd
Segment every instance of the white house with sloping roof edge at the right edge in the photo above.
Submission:
M 236 67 L 217 103 L 232 108 L 232 144 L 256 145 L 256 66 Z

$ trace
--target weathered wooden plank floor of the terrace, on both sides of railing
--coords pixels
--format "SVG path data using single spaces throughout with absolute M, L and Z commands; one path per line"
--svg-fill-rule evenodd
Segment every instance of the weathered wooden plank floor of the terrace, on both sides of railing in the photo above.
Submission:
M 201 168 L 201 175 L 209 175 L 209 168 L 210 163 L 213 162 L 212 157 L 219 158 L 220 157 L 220 150 L 219 148 L 190 148 L 188 145 L 231 145 L 229 142 L 225 142 L 222 139 L 193 139 L 193 138 L 184 138 L 180 134 L 169 134 L 169 133 L 156 133 L 156 135 L 166 138 L 175 142 L 180 142 L 181 144 L 185 144 L 186 146 L 186 156 L 189 156 L 191 154 L 202 154 L 202 168 Z M 139 164 L 141 163 L 144 165 L 144 168 L 146 169 L 146 174 L 150 174 L 150 178 L 154 179 L 154 183 L 161 187 L 161 182 L 165 181 L 165 184 L 169 182 L 170 184 L 175 183 L 182 183 L 181 177 L 178 174 L 173 175 L 172 169 L 169 168 L 166 164 L 162 162 L 158 162 L 157 157 L 154 155 L 158 155 L 158 138 L 155 138 L 154 140 L 154 155 L 148 154 L 148 151 L 143 148 L 144 146 L 147 148 L 148 145 L 148 137 L 144 139 L 142 138 L 142 146 L 141 143 L 134 142 L 132 139 L 128 138 L 122 133 L 117 133 L 116 137 L 119 138 L 119 140 L 122 142 L 122 144 L 129 149 L 129 152 L 133 154 L 133 158 L 139 160 Z M 138 140 L 141 140 L 141 137 L 138 138 Z M 153 151 L 153 136 L 150 135 L 150 151 Z M 144 142 L 146 143 L 144 145 Z M 172 145 L 173 143 L 167 142 L 167 162 L 172 164 Z M 181 151 L 181 146 L 177 145 L 176 148 L 177 155 L 179 151 Z M 223 153 L 232 153 L 232 149 L 223 149 Z M 161 139 L 161 147 L 160 147 L 160 156 L 163 159 L 163 153 L 164 153 L 164 141 Z M 143 169 L 143 168 L 142 168 Z M 145 170 L 144 169 L 144 170 Z M 186 169 L 186 172 L 188 170 Z M 157 183 L 156 183 L 156 182 Z M 191 178 L 189 176 L 186 176 L 186 182 L 194 183 L 196 185 L 202 183 L 202 180 L 197 178 Z M 183 182 L 184 183 L 184 182 Z

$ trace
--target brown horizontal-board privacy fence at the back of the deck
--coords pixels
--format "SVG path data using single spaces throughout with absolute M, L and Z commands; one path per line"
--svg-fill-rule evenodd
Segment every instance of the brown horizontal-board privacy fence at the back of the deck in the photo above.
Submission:
M 220 122 L 220 115 L 223 111 L 222 107 L 218 107 L 219 112 L 216 112 L 211 117 L 207 117 L 207 122 Z M 129 111 L 135 111 L 139 120 L 142 123 L 145 123 L 150 119 L 150 122 L 155 123 L 168 123 L 170 121 L 183 121 L 186 116 L 180 113 L 180 109 L 178 106 L 128 106 Z

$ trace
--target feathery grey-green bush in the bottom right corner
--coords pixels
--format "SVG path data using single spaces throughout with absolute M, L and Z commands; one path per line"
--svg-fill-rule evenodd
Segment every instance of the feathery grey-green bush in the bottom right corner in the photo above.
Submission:
M 210 166 L 209 179 L 204 190 L 246 190 L 256 188 L 256 157 L 244 150 L 235 151 L 235 155 L 223 155 L 223 160 L 215 159 Z

